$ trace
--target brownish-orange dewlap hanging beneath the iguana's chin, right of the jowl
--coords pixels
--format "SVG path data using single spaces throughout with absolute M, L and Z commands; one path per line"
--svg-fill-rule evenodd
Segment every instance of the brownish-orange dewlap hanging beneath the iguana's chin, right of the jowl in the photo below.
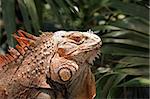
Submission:
M 79 65 L 79 73 L 74 76 L 67 85 L 69 94 L 68 99 L 78 97 L 79 99 L 93 99 L 95 97 L 95 78 L 90 70 L 90 65 L 87 63 Z

